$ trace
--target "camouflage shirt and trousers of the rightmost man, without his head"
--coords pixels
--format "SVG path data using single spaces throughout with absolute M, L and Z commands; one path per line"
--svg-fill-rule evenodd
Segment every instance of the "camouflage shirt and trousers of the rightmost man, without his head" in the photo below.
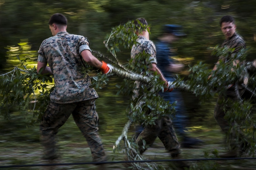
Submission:
M 231 54 L 235 55 L 235 53 L 239 52 L 241 49 L 245 48 L 245 41 L 237 34 L 234 34 L 230 39 L 225 40 L 221 47 L 227 47 L 227 48 L 235 48 L 234 52 Z M 222 59 L 222 58 L 220 58 Z M 226 62 L 229 59 L 226 59 Z M 239 93 L 243 94 L 245 92 L 245 89 L 242 88 L 242 86 L 239 87 Z M 235 87 L 232 86 L 229 89 L 226 90 L 225 96 L 224 95 L 219 95 L 217 103 L 214 108 L 214 117 L 215 120 L 217 121 L 218 125 L 221 127 L 221 129 L 224 131 L 226 134 L 227 142 L 229 144 L 229 147 L 231 150 L 236 149 L 238 147 L 239 141 L 243 138 L 243 134 L 241 131 L 239 132 L 238 138 L 236 137 L 236 132 L 233 131 L 234 128 L 231 128 L 230 133 L 228 133 L 230 129 L 230 125 L 233 126 L 235 123 L 230 122 L 229 120 L 225 119 L 225 110 L 229 109 L 231 106 L 225 106 L 224 109 L 224 101 L 230 100 L 236 101 L 237 94 L 235 92 Z M 238 139 L 238 140 L 237 140 Z

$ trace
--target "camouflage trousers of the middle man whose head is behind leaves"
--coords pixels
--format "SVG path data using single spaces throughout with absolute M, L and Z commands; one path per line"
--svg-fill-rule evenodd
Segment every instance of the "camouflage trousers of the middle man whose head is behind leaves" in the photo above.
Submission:
M 143 140 L 146 145 L 152 145 L 157 137 L 163 143 L 165 149 L 170 152 L 172 157 L 180 153 L 180 144 L 172 126 L 172 120 L 168 116 L 164 116 L 155 121 L 156 125 L 146 126 L 139 134 L 136 142 L 139 145 L 139 152 L 142 154 L 147 148 L 143 147 Z

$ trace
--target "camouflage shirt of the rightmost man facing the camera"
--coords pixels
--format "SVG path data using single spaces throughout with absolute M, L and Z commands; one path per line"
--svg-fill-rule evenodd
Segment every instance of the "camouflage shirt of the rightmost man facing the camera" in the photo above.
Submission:
M 232 54 L 235 54 L 241 49 L 245 48 L 245 41 L 238 34 L 234 33 L 232 37 L 222 43 L 221 47 L 235 48 L 235 50 L 232 52 Z M 232 54 L 231 57 L 233 56 Z M 220 59 L 222 59 L 222 56 L 220 57 Z

